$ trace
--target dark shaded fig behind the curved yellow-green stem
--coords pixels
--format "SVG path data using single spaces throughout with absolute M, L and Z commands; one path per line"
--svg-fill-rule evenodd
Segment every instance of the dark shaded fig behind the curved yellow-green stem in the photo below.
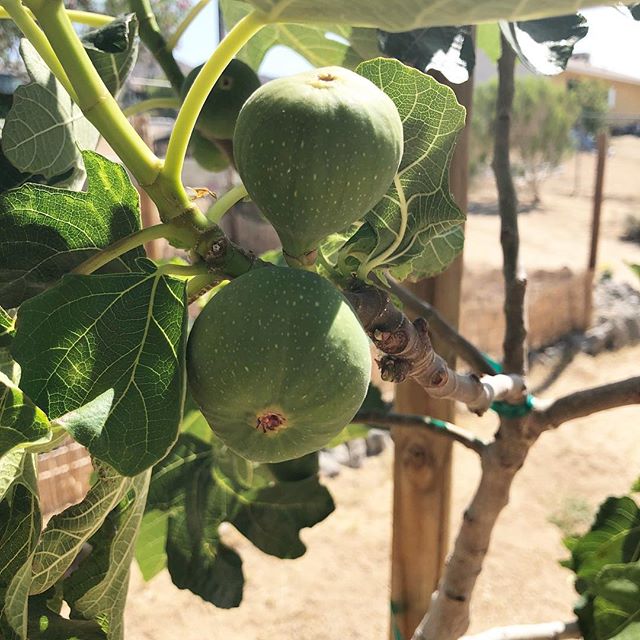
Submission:
M 185 78 L 183 97 L 202 67 L 195 67 Z M 196 129 L 211 140 L 230 140 L 242 105 L 259 86 L 260 79 L 248 64 L 232 60 L 209 93 L 198 116 Z

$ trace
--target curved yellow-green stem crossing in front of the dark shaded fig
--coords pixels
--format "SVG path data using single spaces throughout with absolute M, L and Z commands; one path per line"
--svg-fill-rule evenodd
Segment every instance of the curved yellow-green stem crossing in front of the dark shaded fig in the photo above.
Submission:
M 169 138 L 167 155 L 162 168 L 162 175 L 169 183 L 181 183 L 182 168 L 191 134 L 196 126 L 200 111 L 218 78 L 236 53 L 266 24 L 266 18 L 261 12 L 254 10 L 247 14 L 222 39 L 196 76 L 187 92 Z

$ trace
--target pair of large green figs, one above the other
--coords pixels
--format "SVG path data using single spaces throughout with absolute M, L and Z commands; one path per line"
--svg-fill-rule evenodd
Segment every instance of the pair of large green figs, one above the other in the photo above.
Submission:
M 189 384 L 224 443 L 276 463 L 325 446 L 366 395 L 368 338 L 312 265 L 326 236 L 387 193 L 402 122 L 369 80 L 327 67 L 252 89 L 227 124 L 240 177 L 290 266 L 256 268 L 210 300 L 189 337 Z

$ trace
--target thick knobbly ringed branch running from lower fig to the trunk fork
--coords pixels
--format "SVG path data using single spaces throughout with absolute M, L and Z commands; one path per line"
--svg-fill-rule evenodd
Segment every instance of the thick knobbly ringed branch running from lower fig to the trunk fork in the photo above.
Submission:
M 494 375 L 482 379 L 449 368 L 431 345 L 423 318 L 413 323 L 389 295 L 371 286 L 345 292 L 373 343 L 386 355 L 378 361 L 383 380 L 415 380 L 435 398 L 453 398 L 481 415 L 494 401 L 520 403 L 525 383 L 521 376 Z

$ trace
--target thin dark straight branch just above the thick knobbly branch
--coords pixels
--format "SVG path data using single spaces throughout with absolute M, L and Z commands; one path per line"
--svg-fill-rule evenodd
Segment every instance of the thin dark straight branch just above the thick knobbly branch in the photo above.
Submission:
M 482 352 L 465 337 L 461 336 L 437 309 L 434 309 L 428 302 L 421 300 L 412 291 L 393 280 L 390 280 L 389 290 L 414 313 L 422 316 L 429 323 L 430 329 L 450 345 L 458 357 L 471 365 L 474 371 L 489 375 L 495 373 Z

